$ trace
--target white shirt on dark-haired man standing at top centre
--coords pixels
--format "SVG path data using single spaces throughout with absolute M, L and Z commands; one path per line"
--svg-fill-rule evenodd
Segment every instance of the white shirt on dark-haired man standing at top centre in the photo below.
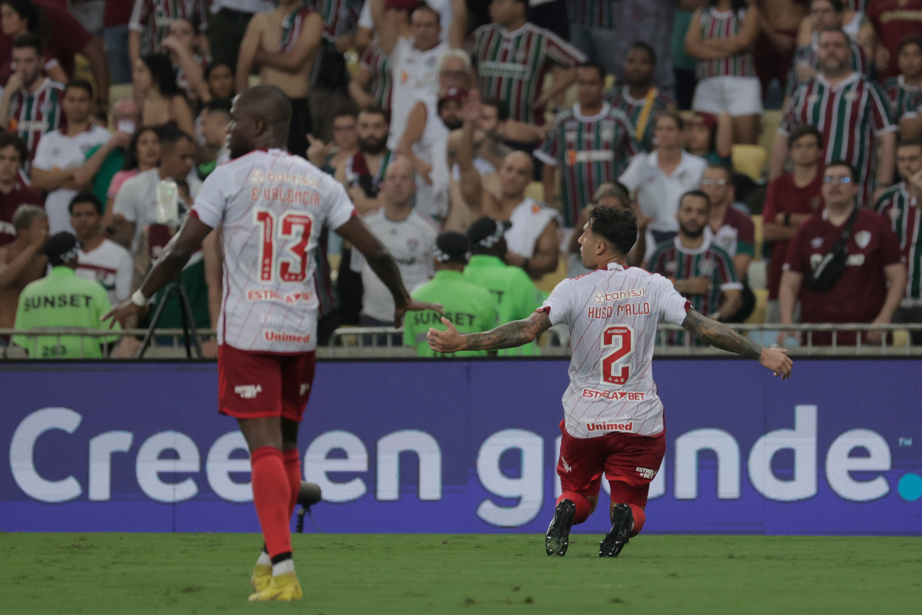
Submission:
M 445 41 L 428 52 L 420 51 L 413 39 L 397 39 L 388 57 L 391 71 L 391 130 L 387 148 L 394 151 L 407 128 L 407 117 L 413 105 L 426 94 L 439 93 L 439 58 L 448 50 Z

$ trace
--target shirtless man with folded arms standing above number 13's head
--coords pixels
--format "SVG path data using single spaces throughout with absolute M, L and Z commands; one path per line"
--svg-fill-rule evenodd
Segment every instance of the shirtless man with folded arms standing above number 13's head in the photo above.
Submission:
M 324 36 L 324 19 L 313 9 L 299 6 L 301 0 L 278 0 L 277 8 L 250 20 L 237 60 L 236 90 L 246 89 L 251 70 L 260 66 L 259 82 L 278 86 L 291 99 L 288 148 L 305 156 L 307 133 L 311 132 L 307 95 L 313 61 Z M 297 38 L 295 32 L 300 32 Z

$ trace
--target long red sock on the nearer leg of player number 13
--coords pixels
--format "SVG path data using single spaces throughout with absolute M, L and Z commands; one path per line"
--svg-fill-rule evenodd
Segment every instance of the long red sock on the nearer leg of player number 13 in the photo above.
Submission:
M 263 528 L 266 550 L 274 561 L 278 555 L 291 552 L 291 488 L 282 452 L 272 446 L 260 446 L 250 455 L 250 465 L 253 467 L 253 503 Z

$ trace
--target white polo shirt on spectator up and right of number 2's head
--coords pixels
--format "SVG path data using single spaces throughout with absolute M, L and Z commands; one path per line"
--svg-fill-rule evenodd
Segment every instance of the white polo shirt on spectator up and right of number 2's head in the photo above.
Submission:
M 657 163 L 658 153 L 638 154 L 631 160 L 627 170 L 618 181 L 637 193 L 637 205 L 645 215 L 653 219 L 652 231 L 679 231 L 679 199 L 689 190 L 701 186 L 701 177 L 707 161 L 682 151 L 679 166 L 667 175 Z

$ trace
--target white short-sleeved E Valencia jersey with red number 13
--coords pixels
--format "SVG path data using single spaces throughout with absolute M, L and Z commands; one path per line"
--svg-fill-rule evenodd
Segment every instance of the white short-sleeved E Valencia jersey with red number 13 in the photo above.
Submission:
M 258 149 L 220 165 L 193 215 L 221 227 L 224 294 L 218 343 L 257 352 L 317 347 L 313 251 L 326 224 L 354 215 L 332 176 L 281 149 Z

